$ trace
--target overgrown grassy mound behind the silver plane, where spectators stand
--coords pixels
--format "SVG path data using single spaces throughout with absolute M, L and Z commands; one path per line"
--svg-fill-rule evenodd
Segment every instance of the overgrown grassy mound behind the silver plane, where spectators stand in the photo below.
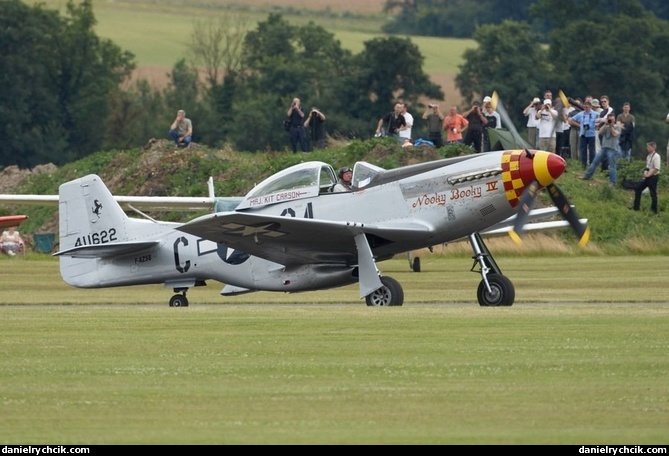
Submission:
M 460 146 L 461 147 L 461 146 Z M 211 149 L 193 144 L 189 150 L 175 150 L 167 140 L 151 140 L 144 148 L 129 151 L 103 151 L 62 168 L 49 168 L 40 174 L 28 174 L 14 191 L 20 194 L 57 194 L 58 186 L 88 173 L 99 174 L 118 195 L 145 196 L 202 196 L 206 195 L 206 181 L 214 179 L 218 196 L 241 196 L 255 183 L 293 164 L 306 160 L 322 160 L 335 168 L 365 160 L 383 168 L 453 156 L 462 149 L 414 147 L 403 149 L 388 139 L 353 141 L 334 145 L 322 151 L 293 154 L 288 151 L 268 153 L 238 152 L 231 149 Z M 644 166 L 640 160 L 621 166 L 622 176 L 637 176 Z M 593 255 L 614 254 L 669 254 L 669 182 L 662 175 L 660 181 L 660 215 L 649 213 L 649 197 L 642 200 L 643 211 L 628 209 L 633 193 L 620 187 L 610 187 L 603 173 L 597 172 L 591 181 L 581 181 L 580 163 L 569 161 L 567 172 L 559 186 L 577 207 L 581 217 L 589 219 L 592 230 L 590 244 L 585 252 Z M 0 176 L 1 178 L 1 176 Z M 624 177 L 620 177 L 620 182 Z M 540 194 L 537 206 L 552 204 L 545 192 Z M 0 214 L 26 213 L 30 220 L 22 226 L 24 233 L 57 232 L 57 208 L 19 207 L 0 208 Z M 150 214 L 163 220 L 184 221 L 192 213 Z M 495 249 L 511 254 L 535 255 L 580 253 L 572 233 L 558 230 L 550 235 L 530 237 L 518 248 L 506 238 L 495 242 Z M 449 248 L 448 253 L 454 249 Z M 469 255 L 468 246 L 457 250 Z

